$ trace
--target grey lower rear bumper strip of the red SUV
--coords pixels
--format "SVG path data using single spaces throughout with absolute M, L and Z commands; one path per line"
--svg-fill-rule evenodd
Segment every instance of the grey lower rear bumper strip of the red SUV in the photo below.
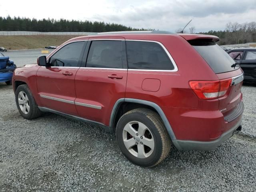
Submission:
M 242 118 L 227 132 L 224 132 L 218 139 L 209 142 L 202 141 L 186 141 L 186 140 L 173 140 L 173 144 L 178 150 L 201 150 L 208 151 L 215 149 L 222 142 L 233 136 L 234 131 L 240 126 Z

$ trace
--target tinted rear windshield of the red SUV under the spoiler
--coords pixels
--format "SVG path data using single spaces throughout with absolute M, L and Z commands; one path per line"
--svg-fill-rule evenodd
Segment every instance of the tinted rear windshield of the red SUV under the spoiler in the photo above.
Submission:
M 234 60 L 215 42 L 209 40 L 190 40 L 188 42 L 197 50 L 216 74 L 234 71 L 239 68 L 238 65 L 231 67 L 235 63 Z

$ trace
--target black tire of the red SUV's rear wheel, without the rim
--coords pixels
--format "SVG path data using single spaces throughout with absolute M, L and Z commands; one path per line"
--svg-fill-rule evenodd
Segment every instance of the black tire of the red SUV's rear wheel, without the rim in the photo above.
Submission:
M 146 125 L 154 138 L 154 150 L 151 155 L 146 158 L 138 158 L 134 156 L 128 151 L 124 144 L 124 127 L 126 124 L 133 121 L 138 121 Z M 143 167 L 152 167 L 159 164 L 166 158 L 171 148 L 170 136 L 164 126 L 164 123 L 162 122 L 162 119 L 156 112 L 146 108 L 137 108 L 128 111 L 119 119 L 116 126 L 116 139 L 118 141 L 120 150 L 126 156 L 126 158 L 128 158 L 128 160 L 130 160 L 132 163 Z M 140 142 L 138 141 L 137 147 L 139 144 Z

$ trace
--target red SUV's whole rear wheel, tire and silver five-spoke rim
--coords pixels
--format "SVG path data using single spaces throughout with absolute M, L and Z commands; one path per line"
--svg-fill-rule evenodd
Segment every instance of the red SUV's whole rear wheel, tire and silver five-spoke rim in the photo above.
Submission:
M 134 164 L 152 167 L 170 151 L 171 140 L 160 116 L 138 108 L 124 114 L 116 126 L 116 138 L 122 153 Z

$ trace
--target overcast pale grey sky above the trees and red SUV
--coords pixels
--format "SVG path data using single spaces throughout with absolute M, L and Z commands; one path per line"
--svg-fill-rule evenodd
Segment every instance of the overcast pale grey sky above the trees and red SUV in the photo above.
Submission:
M 228 22 L 256 22 L 256 0 L 3 0 L 0 16 L 104 21 L 175 32 L 193 19 L 196 32 Z M 188 30 L 187 28 L 187 30 Z

